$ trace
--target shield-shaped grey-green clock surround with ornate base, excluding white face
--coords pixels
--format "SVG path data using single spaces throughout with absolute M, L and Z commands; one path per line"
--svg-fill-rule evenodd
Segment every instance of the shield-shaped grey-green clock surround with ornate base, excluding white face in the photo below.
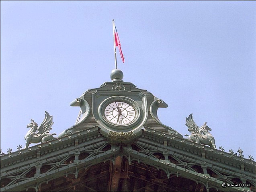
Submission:
M 135 120 L 121 126 L 108 122 L 104 117 L 104 109 L 113 101 L 131 104 L 136 110 Z M 146 95 L 141 91 L 97 90 L 92 94 L 92 113 L 99 124 L 101 134 L 111 142 L 131 142 L 142 134 L 143 124 L 147 120 Z

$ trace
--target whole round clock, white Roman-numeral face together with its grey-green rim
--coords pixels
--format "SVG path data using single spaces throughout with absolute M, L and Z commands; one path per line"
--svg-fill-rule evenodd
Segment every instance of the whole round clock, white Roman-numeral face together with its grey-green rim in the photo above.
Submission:
M 104 120 L 115 126 L 133 124 L 139 116 L 139 107 L 128 99 L 111 99 L 102 106 Z

